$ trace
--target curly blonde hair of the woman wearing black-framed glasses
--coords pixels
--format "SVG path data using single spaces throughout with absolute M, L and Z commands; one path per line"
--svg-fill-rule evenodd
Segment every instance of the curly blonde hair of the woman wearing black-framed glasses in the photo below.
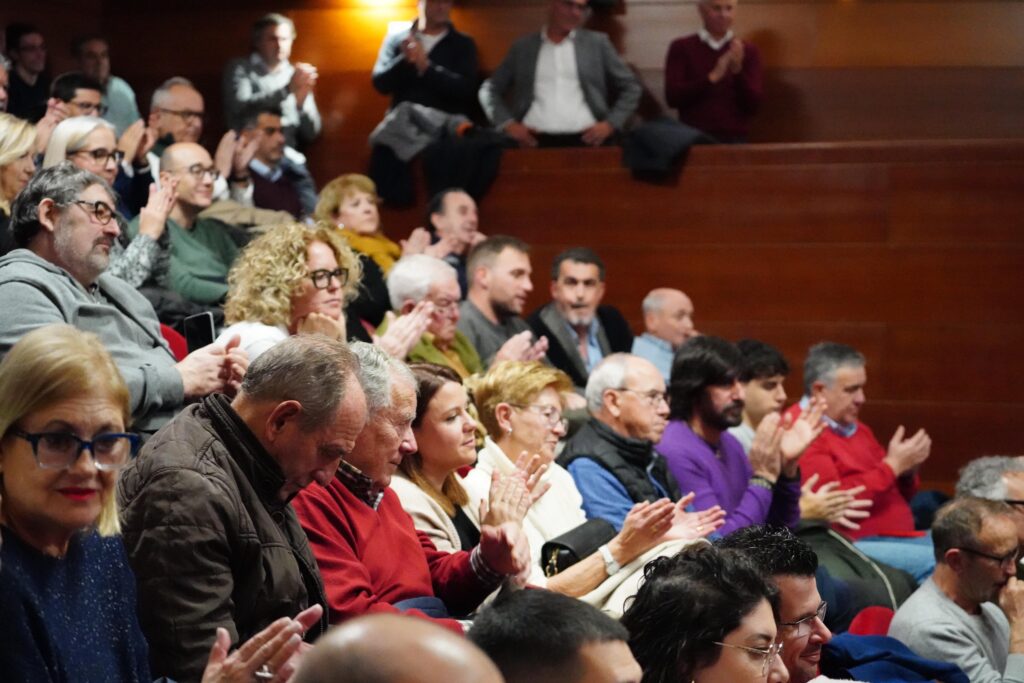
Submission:
M 243 322 L 290 325 L 292 298 L 302 291 L 302 281 L 309 274 L 306 251 L 313 242 L 329 246 L 338 266 L 348 269 L 345 299 L 354 297 L 362 266 L 338 230 L 324 224 L 275 225 L 250 242 L 227 273 L 224 303 L 227 325 Z

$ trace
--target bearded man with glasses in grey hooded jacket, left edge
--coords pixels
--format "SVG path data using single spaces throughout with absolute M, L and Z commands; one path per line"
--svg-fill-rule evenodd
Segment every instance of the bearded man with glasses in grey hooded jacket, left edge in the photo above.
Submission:
M 22 190 L 11 216 L 18 249 L 0 258 L 0 353 L 51 323 L 95 334 L 128 384 L 133 429 L 152 432 L 186 400 L 232 391 L 248 359 L 232 339 L 175 362 L 153 306 L 103 272 L 120 231 L 113 206 L 105 181 L 70 162 L 43 169 Z

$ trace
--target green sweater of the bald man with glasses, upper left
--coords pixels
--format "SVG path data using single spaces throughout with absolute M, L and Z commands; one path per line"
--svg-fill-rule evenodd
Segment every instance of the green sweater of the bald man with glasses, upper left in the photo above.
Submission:
M 134 239 L 138 217 L 128 225 Z M 154 272 L 152 280 L 167 283 L 170 289 L 189 301 L 219 303 L 227 294 L 227 271 L 234 263 L 239 247 L 231 240 L 228 226 L 213 218 L 198 218 L 191 229 L 167 219 L 167 230 L 159 240 L 162 249 L 171 252 L 170 272 Z

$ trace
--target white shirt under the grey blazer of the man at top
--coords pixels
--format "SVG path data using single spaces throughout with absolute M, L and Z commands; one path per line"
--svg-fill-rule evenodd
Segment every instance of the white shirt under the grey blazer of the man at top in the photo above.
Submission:
M 597 123 L 580 84 L 575 32 L 560 43 L 553 43 L 546 31 L 541 32 L 534 102 L 522 122 L 542 133 L 580 133 Z

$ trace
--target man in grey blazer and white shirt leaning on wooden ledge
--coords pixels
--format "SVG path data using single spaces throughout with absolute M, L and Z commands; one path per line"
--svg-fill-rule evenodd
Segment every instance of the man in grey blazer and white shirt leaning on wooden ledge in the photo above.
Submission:
M 587 0 L 549 0 L 544 28 L 480 87 L 490 123 L 518 145 L 604 144 L 636 111 L 640 82 L 606 35 L 581 28 L 589 12 Z

